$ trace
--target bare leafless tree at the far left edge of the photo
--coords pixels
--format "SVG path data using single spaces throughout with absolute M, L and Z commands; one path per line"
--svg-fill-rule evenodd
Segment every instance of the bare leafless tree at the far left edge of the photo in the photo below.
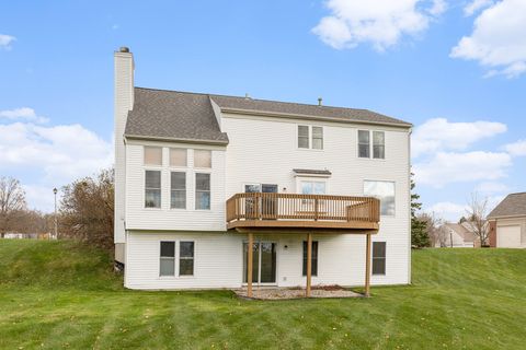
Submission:
M 0 236 L 3 238 L 13 222 L 25 210 L 25 191 L 12 177 L 0 177 Z

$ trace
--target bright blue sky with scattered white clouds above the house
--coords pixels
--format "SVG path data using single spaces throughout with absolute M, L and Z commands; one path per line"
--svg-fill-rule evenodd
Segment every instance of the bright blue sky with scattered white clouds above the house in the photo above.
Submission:
M 522 0 L 16 1 L 0 12 L 0 174 L 52 188 L 112 162 L 113 51 L 136 85 L 361 107 L 414 124 L 426 210 L 526 190 Z M 521 142 L 524 141 L 524 142 Z

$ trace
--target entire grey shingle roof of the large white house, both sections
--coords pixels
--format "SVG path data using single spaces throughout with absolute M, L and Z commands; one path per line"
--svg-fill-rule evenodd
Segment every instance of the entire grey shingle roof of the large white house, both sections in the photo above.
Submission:
M 410 122 L 367 109 L 307 105 L 249 97 L 135 88 L 134 109 L 128 113 L 127 138 L 176 139 L 227 144 L 213 103 L 222 112 L 237 114 L 322 119 L 410 128 Z

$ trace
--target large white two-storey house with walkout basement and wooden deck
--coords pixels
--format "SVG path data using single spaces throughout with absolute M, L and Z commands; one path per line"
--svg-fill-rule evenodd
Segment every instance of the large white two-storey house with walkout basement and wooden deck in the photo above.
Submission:
M 410 283 L 410 135 L 411 124 L 366 109 L 135 88 L 122 48 L 115 258 L 125 287 L 308 294 L 311 284 Z

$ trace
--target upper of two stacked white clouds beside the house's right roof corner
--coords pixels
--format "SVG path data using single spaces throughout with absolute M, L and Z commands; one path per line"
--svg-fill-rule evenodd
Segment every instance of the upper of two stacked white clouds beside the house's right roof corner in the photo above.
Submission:
M 472 143 L 506 131 L 502 122 L 450 122 L 445 118 L 428 119 L 414 129 L 411 140 L 413 158 L 437 151 L 461 151 Z

